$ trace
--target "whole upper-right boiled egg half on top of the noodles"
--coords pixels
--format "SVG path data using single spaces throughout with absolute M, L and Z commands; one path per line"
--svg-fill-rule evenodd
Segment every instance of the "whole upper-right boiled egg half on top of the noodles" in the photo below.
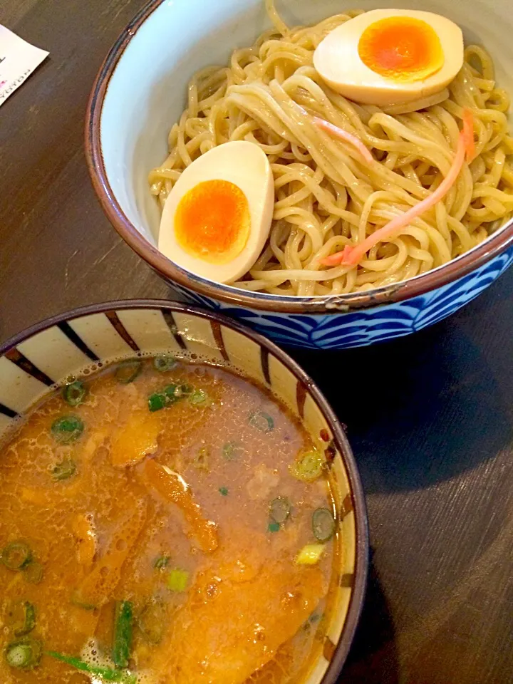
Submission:
M 375 9 L 349 19 L 318 45 L 314 66 L 350 100 L 395 105 L 443 90 L 463 66 L 463 36 L 431 12 Z

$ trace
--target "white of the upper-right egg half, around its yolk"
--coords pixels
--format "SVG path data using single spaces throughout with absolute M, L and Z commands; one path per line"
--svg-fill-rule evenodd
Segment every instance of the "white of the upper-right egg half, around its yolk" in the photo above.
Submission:
M 440 38 L 444 64 L 422 81 L 401 83 L 372 71 L 358 54 L 363 31 L 380 19 L 409 16 L 429 24 Z M 463 66 L 463 34 L 445 16 L 408 9 L 375 9 L 333 29 L 314 53 L 314 66 L 330 88 L 344 97 L 378 106 L 412 102 L 443 90 Z

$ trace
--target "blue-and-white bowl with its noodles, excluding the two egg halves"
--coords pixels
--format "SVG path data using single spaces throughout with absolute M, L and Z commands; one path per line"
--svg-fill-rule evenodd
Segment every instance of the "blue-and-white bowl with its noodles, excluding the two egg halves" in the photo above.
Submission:
M 408 102 L 356 102 L 319 76 L 314 55 L 363 12 L 390 6 L 459 26 L 462 67 Z M 512 29 L 494 0 L 154 0 L 93 86 L 95 191 L 175 289 L 275 341 L 345 348 L 418 331 L 513 261 Z M 168 258 L 160 226 L 182 174 L 235 141 L 264 151 L 274 205 L 247 271 L 220 282 Z

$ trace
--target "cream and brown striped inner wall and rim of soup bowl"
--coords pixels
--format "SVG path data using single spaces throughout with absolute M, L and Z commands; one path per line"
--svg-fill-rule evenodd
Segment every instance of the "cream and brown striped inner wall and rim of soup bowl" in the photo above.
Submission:
M 341 424 L 312 380 L 274 344 L 223 316 L 165 301 L 100 304 L 43 321 L 0 348 L 0 436 L 71 375 L 157 353 L 237 368 L 285 403 L 325 452 L 343 550 L 336 609 L 331 621 L 318 628 L 323 648 L 306 684 L 335 683 L 366 585 L 365 502 Z

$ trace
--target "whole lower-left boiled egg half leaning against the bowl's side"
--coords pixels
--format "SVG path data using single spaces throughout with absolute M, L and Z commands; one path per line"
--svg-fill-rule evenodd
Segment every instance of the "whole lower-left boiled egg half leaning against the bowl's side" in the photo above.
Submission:
M 160 221 L 160 252 L 198 276 L 231 283 L 257 261 L 273 210 L 265 152 L 254 142 L 224 142 L 192 162 L 172 188 Z

